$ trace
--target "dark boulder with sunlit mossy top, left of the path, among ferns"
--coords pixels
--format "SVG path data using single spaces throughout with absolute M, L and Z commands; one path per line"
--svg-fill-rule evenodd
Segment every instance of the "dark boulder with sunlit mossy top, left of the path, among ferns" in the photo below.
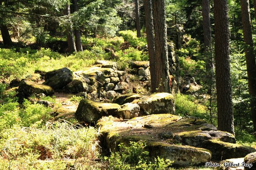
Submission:
M 37 84 L 31 81 L 20 82 L 18 88 L 18 96 L 20 99 L 28 98 L 41 93 L 45 94 L 46 96 L 52 96 L 54 94 L 54 90 L 50 86 L 44 84 Z

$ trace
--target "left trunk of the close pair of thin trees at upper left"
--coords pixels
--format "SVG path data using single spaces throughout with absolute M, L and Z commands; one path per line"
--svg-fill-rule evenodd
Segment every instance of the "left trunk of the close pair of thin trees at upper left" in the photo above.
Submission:
M 70 16 L 70 6 L 69 5 L 66 6 L 64 14 L 66 16 Z M 70 53 L 76 52 L 76 44 L 75 44 L 75 39 L 74 39 L 74 32 L 73 32 L 72 23 L 71 23 L 70 20 L 67 23 L 66 32 L 67 32 L 67 41 L 68 41 L 68 51 Z

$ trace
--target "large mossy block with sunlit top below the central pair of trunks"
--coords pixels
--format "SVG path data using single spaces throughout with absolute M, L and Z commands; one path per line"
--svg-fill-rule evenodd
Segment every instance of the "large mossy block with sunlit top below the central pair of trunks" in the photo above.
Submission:
M 142 114 L 175 113 L 174 97 L 169 93 L 156 93 L 134 100 Z

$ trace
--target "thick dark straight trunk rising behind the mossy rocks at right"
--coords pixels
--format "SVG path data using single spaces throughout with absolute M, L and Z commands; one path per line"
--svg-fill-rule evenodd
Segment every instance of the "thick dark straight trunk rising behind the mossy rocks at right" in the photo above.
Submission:
M 214 0 L 218 129 L 234 134 L 230 80 L 228 0 Z

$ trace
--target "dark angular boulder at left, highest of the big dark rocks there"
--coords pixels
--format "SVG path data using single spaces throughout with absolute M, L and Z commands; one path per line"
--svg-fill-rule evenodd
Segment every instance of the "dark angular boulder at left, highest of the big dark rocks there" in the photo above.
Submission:
M 73 80 L 72 71 L 64 67 L 58 70 L 46 72 L 44 84 L 51 86 L 54 90 L 62 89 Z

